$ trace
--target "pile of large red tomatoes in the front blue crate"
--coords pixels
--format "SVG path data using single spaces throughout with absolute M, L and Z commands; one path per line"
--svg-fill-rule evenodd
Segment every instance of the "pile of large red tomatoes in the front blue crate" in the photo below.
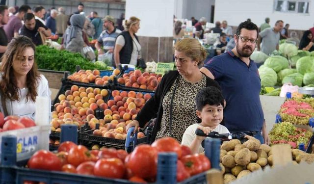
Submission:
M 178 182 L 210 169 L 209 159 L 205 155 L 191 155 L 188 147 L 180 145 L 171 137 L 157 139 L 152 145 L 139 145 L 130 154 L 113 148 L 89 151 L 85 146 L 67 141 L 60 144 L 57 153 L 37 151 L 27 165 L 31 169 L 146 183 L 156 181 L 157 157 L 160 152 L 177 153 Z

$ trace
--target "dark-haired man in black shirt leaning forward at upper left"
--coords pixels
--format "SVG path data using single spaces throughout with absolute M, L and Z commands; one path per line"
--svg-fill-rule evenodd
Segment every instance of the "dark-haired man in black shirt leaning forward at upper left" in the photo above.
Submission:
M 26 13 L 24 21 L 24 26 L 21 28 L 21 35 L 30 38 L 36 46 L 43 44 L 39 32 L 43 33 L 46 37 L 51 36 L 51 30 L 39 20 L 35 20 L 34 14 Z

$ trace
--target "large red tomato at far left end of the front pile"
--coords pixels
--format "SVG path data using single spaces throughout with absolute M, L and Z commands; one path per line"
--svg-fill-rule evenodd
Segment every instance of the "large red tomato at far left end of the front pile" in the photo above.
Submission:
M 31 169 L 43 169 L 50 171 L 60 171 L 62 163 L 52 152 L 46 150 L 37 151 L 29 158 L 27 165 Z

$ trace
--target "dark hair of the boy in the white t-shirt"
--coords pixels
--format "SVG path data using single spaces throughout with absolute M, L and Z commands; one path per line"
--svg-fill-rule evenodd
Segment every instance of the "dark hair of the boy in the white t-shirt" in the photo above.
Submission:
M 221 91 L 213 86 L 201 89 L 196 97 L 196 109 L 202 111 L 205 105 L 222 105 L 224 106 L 225 99 Z

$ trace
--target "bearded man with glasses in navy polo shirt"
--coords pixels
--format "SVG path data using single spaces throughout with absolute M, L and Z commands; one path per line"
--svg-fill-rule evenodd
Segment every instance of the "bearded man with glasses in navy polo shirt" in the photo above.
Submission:
M 254 23 L 241 23 L 234 35 L 235 48 L 213 57 L 200 71 L 215 79 L 222 89 L 226 100 L 224 125 L 228 130 L 244 132 L 268 144 L 260 100 L 261 79 L 256 64 L 249 58 L 258 35 Z

